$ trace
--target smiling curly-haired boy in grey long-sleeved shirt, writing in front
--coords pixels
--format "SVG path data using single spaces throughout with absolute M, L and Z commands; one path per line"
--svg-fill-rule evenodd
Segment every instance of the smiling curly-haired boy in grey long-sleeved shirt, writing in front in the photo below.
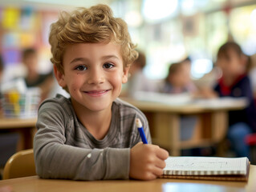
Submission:
M 51 25 L 49 41 L 55 77 L 71 98 L 59 95 L 39 107 L 34 145 L 39 176 L 149 180 L 161 175 L 168 152 L 140 142 L 136 118 L 151 142 L 144 114 L 117 98 L 137 56 L 125 22 L 105 5 L 80 8 Z

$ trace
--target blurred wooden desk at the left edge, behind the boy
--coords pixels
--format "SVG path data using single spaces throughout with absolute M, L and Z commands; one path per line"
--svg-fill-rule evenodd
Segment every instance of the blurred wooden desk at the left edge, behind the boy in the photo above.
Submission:
M 3 131 L 18 132 L 20 141 L 18 150 L 33 148 L 36 118 L 0 118 L 0 133 Z

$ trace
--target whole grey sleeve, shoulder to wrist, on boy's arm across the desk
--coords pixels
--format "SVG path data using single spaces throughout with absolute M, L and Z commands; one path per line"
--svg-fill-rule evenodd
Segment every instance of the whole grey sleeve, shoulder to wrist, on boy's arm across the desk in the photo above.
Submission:
M 34 138 L 35 166 L 39 177 L 128 179 L 130 149 L 84 149 L 65 144 L 65 135 L 70 134 L 65 130 L 65 115 L 45 106 L 39 109 L 38 131 Z

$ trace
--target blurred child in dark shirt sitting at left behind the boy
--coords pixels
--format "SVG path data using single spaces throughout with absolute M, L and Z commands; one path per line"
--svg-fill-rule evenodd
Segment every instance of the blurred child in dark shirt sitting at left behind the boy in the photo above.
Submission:
M 54 82 L 53 74 L 39 74 L 39 58 L 35 49 L 29 48 L 24 50 L 22 62 L 26 66 L 26 86 L 39 87 L 41 89 L 41 99 L 47 98 Z

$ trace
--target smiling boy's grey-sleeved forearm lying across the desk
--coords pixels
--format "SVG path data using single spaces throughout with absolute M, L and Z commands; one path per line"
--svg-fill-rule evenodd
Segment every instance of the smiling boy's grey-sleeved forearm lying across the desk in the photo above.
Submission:
M 130 149 L 82 149 L 35 140 L 35 165 L 41 178 L 127 179 Z M 43 145 L 42 145 L 43 144 Z

